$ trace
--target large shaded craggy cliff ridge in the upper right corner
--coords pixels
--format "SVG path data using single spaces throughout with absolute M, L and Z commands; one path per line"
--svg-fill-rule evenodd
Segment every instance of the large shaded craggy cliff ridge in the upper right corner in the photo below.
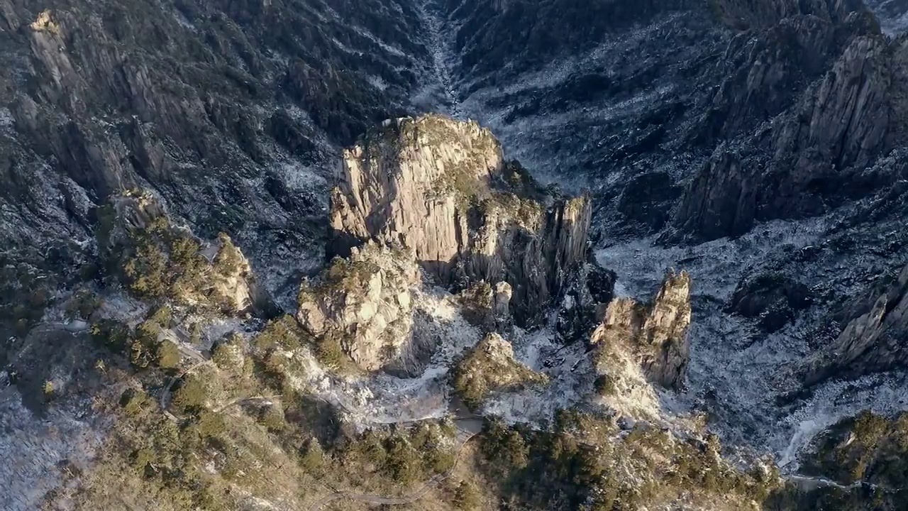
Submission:
M 814 4 L 828 15 L 789 14 L 731 40 L 716 68 L 726 77 L 692 131 L 723 142 L 688 183 L 666 239 L 820 215 L 897 179 L 865 171 L 904 140 L 908 45 L 863 8 Z

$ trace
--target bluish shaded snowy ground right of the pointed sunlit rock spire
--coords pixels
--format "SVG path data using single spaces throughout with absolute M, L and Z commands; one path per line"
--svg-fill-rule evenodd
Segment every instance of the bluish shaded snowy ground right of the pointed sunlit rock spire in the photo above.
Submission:
M 599 263 L 617 273 L 619 296 L 653 296 L 670 267 L 691 274 L 694 314 L 687 391 L 671 406 L 663 401 L 663 410 L 675 406 L 695 410 L 711 401 L 706 405 L 711 427 L 726 444 L 774 453 L 789 472 L 796 470 L 796 456 L 804 447 L 838 420 L 863 409 L 885 413 L 908 409 L 908 383 L 897 374 L 827 382 L 792 409 L 779 406 L 776 396 L 800 388 L 792 369 L 813 351 L 804 324 L 817 318 L 800 318 L 755 342 L 750 323 L 722 311 L 750 266 L 785 245 L 818 243 L 832 221 L 821 217 L 770 222 L 738 239 L 695 246 L 666 247 L 640 239 L 597 251 Z

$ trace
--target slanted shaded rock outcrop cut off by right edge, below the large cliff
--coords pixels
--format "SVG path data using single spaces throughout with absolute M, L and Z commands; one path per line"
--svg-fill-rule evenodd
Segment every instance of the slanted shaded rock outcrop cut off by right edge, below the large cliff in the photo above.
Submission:
M 811 357 L 804 382 L 861 376 L 908 363 L 908 266 L 875 296 L 858 302 L 832 345 Z

